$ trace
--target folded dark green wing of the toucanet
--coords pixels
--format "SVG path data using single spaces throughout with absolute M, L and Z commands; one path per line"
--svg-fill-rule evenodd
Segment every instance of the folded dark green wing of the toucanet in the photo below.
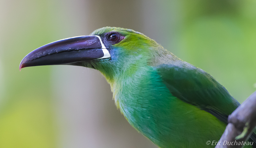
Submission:
M 172 95 L 225 123 L 228 115 L 240 105 L 210 74 L 187 62 L 162 64 L 156 68 Z

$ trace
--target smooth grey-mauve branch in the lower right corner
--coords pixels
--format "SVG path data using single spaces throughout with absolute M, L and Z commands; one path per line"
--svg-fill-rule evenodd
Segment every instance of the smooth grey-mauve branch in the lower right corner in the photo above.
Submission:
M 229 124 L 215 148 L 241 148 L 244 144 L 235 142 L 246 142 L 256 126 L 256 91 L 229 115 L 227 121 Z M 227 141 L 233 145 L 223 145 Z

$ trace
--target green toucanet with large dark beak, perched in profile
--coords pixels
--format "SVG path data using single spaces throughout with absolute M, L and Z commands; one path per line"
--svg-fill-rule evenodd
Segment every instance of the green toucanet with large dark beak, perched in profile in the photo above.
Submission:
M 215 147 L 212 141 L 240 105 L 210 74 L 131 29 L 103 27 L 46 44 L 27 54 L 19 69 L 40 65 L 97 69 L 117 109 L 160 148 Z M 256 147 L 255 133 L 249 141 L 254 144 L 245 147 Z

